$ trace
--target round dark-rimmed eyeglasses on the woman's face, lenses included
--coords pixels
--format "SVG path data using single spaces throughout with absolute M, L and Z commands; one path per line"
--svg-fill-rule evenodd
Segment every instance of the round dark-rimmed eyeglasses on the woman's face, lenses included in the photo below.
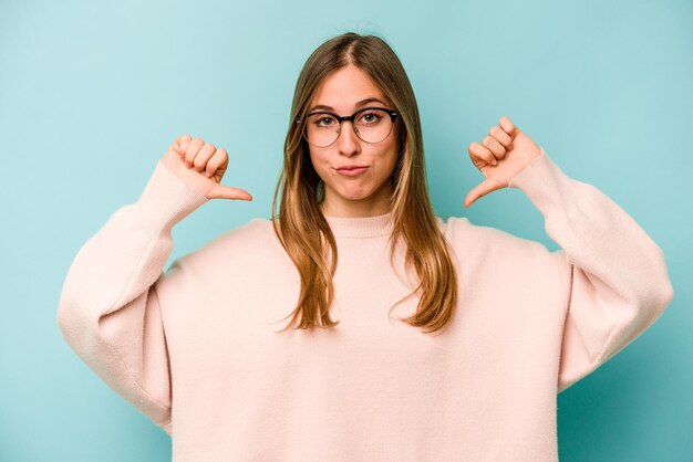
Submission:
M 370 144 L 381 143 L 390 136 L 397 116 L 396 111 L 384 107 L 365 107 L 343 117 L 324 111 L 310 113 L 306 116 L 303 136 L 311 145 L 325 148 L 339 138 L 342 122 L 349 120 L 359 139 Z M 294 122 L 300 124 L 301 120 L 297 117 Z

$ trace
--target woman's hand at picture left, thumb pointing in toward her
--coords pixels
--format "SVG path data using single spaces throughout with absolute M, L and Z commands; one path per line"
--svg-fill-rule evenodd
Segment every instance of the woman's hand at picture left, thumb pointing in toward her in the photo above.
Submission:
M 247 191 L 221 185 L 228 167 L 226 149 L 217 149 L 201 138 L 180 136 L 168 147 L 162 162 L 207 199 L 252 200 Z

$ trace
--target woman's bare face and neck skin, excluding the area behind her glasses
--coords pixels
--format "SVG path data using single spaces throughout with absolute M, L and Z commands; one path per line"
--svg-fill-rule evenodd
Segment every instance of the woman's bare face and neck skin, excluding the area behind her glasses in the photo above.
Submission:
M 325 77 L 309 106 L 310 113 L 329 111 L 340 116 L 350 116 L 363 107 L 394 109 L 371 77 L 351 64 Z M 387 179 L 397 160 L 399 124 L 397 119 L 384 140 L 369 144 L 356 136 L 351 122 L 344 120 L 331 146 L 308 145 L 313 168 L 324 182 L 325 216 L 374 217 L 390 211 L 392 187 Z M 340 171 L 354 166 L 364 168 L 351 175 Z

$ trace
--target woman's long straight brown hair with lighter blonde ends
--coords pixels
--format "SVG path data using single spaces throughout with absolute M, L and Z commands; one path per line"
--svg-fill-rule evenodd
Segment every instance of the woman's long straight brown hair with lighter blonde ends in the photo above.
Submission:
M 393 261 L 395 248 L 403 243 L 405 271 L 408 274 L 414 270 L 418 285 L 393 308 L 418 294 L 416 312 L 401 321 L 423 327 L 425 332 L 435 332 L 446 326 L 454 315 L 457 277 L 452 250 L 436 227 L 428 198 L 416 98 L 406 72 L 390 45 L 379 36 L 354 32 L 328 40 L 309 56 L 293 94 L 283 147 L 283 169 L 272 200 L 272 225 L 298 269 L 301 290 L 298 304 L 289 315 L 292 318 L 282 332 L 291 325 L 304 329 L 339 324 L 330 318 L 329 313 L 334 298 L 332 277 L 337 270 L 337 243 L 319 208 L 324 199 L 324 185 L 310 160 L 301 120 L 308 115 L 308 106 L 322 81 L 350 64 L 365 72 L 400 114 L 395 122 L 401 124 L 396 130 L 400 154 L 389 179 L 393 191 L 390 260 Z

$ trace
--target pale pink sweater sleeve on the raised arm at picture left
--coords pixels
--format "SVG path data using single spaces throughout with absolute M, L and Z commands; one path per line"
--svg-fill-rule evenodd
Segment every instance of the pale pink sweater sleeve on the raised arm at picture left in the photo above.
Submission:
M 159 160 L 139 199 L 116 210 L 80 249 L 59 301 L 64 340 L 169 434 L 170 378 L 156 282 L 164 277 L 174 224 L 207 200 Z

